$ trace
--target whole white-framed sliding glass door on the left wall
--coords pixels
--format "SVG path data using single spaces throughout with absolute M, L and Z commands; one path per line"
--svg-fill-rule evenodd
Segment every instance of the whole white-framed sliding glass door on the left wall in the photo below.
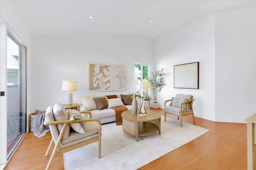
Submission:
M 1 20 L 0 165 L 26 133 L 26 47 Z

